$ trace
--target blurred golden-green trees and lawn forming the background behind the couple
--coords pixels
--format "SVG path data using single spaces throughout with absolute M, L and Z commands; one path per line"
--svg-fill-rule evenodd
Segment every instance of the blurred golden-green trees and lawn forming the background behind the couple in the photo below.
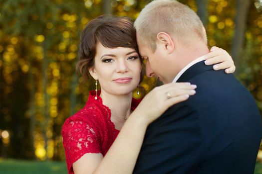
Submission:
M 75 73 L 80 31 L 104 13 L 135 19 L 150 1 L 0 0 L 1 174 L 66 173 L 61 126 L 95 87 Z M 262 0 L 179 1 L 198 13 L 209 46 L 233 57 L 262 113 Z M 134 97 L 155 85 L 145 78 Z

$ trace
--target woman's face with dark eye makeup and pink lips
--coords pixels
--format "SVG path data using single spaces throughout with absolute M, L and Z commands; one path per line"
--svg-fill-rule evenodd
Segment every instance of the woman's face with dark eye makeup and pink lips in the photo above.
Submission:
M 89 72 L 99 81 L 102 92 L 124 95 L 137 87 L 141 70 L 142 65 L 135 49 L 106 48 L 98 43 L 95 63 Z

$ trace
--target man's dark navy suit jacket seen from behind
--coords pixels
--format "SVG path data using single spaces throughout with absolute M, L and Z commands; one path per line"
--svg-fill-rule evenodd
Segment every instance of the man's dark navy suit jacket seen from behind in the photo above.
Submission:
M 178 82 L 196 94 L 149 125 L 133 173 L 254 174 L 262 124 L 251 93 L 204 61 Z

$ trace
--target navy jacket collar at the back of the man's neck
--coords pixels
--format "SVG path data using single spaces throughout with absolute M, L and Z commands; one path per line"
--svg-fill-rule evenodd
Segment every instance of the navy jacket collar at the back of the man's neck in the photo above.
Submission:
M 187 69 L 185 73 L 183 73 L 180 78 L 177 80 L 177 82 L 188 82 L 193 77 L 205 72 L 213 70 L 213 65 L 205 65 L 205 61 L 201 61 Z

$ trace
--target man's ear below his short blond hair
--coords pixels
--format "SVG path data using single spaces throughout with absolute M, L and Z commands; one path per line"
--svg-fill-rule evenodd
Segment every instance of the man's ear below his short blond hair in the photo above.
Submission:
M 166 32 L 159 32 L 157 34 L 157 42 L 160 43 L 168 53 L 172 53 L 175 49 L 175 44 L 172 37 Z

